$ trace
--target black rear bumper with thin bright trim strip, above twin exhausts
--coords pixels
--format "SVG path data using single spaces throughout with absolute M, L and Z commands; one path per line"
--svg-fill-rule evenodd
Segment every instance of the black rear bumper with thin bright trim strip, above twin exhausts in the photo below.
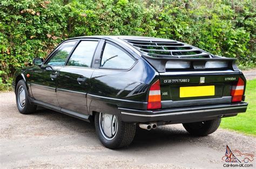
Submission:
M 166 124 L 190 123 L 214 119 L 217 117 L 235 116 L 245 112 L 248 103 L 228 103 L 201 105 L 194 107 L 160 109 L 160 110 L 133 110 L 118 108 L 124 122 L 160 122 Z

